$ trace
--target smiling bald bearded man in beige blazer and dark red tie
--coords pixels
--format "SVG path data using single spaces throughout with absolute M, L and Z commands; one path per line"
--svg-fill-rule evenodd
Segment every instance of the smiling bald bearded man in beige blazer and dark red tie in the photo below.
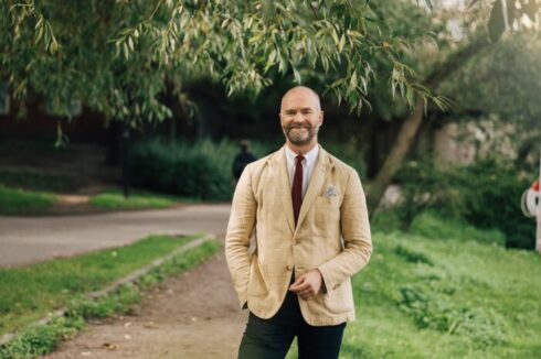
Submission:
M 364 194 L 357 172 L 318 145 L 314 90 L 288 90 L 279 118 L 286 144 L 244 170 L 225 238 L 250 309 L 238 358 L 284 358 L 295 337 L 300 358 L 338 358 L 354 319 L 350 276 L 372 252 Z

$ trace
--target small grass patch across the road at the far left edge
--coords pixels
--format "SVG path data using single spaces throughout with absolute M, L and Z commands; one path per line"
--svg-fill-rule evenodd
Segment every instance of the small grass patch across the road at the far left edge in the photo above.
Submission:
M 42 210 L 55 204 L 56 200 L 53 194 L 14 189 L 0 185 L 0 215 Z

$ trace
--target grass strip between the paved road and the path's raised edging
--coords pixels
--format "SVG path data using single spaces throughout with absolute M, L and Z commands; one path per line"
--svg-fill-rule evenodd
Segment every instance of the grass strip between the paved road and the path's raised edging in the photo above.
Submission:
M 34 265 L 0 269 L 0 335 L 99 290 L 193 237 L 150 236 L 134 244 Z

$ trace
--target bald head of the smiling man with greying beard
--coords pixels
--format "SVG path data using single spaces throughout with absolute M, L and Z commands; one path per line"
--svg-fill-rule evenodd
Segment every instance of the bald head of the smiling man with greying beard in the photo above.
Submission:
M 282 130 L 286 139 L 296 146 L 317 143 L 319 127 L 323 122 L 323 111 L 319 96 L 311 88 L 297 86 L 282 98 Z

